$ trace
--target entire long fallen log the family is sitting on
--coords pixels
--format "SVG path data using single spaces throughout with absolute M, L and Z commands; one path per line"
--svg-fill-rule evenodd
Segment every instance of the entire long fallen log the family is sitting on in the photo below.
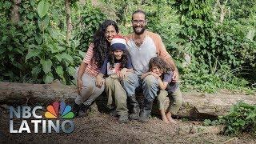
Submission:
M 0 82 L 0 104 L 9 106 L 47 106 L 54 101 L 71 103 L 76 96 L 75 86 L 64 86 L 58 81 L 52 84 Z M 239 101 L 256 104 L 256 97 L 250 95 L 183 93 L 182 98 L 183 106 L 177 115 L 192 119 L 215 119 L 218 115 L 227 114 L 230 106 Z M 169 102 L 166 98 L 166 108 Z M 103 94 L 96 104 L 99 111 L 106 111 L 106 96 Z M 156 104 L 152 112 L 159 114 Z

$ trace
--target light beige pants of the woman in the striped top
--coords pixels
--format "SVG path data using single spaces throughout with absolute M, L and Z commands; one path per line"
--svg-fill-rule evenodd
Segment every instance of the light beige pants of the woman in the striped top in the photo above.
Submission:
M 90 106 L 92 102 L 95 101 L 96 98 L 100 94 L 102 94 L 104 90 L 104 85 L 101 88 L 96 86 L 96 79 L 89 74 L 84 73 L 82 75 L 82 90 L 81 95 L 78 95 L 74 102 L 78 105 L 84 104 L 86 106 Z

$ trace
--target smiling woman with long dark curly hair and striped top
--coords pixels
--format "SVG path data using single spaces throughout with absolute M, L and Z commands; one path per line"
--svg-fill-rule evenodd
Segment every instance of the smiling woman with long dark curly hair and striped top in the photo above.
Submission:
M 110 42 L 118 32 L 117 23 L 106 20 L 94 34 L 93 43 L 90 44 L 78 70 L 78 96 L 74 100 L 76 116 L 84 116 L 91 103 L 102 94 L 105 81 L 97 75 L 110 51 Z

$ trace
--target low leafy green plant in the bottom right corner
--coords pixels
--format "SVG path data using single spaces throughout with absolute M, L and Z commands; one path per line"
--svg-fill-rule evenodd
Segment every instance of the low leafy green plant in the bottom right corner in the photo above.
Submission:
M 250 132 L 256 135 L 256 106 L 238 102 L 231 107 L 229 114 L 220 117 L 219 122 L 226 125 L 225 134 Z

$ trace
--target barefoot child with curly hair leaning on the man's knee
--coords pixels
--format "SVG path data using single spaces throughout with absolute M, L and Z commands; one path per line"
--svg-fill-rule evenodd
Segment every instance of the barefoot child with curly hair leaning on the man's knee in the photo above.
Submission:
M 176 82 L 171 82 L 173 72 L 167 67 L 166 62 L 158 57 L 150 59 L 149 70 L 150 72 L 142 74 L 142 78 L 146 78 L 147 75 L 154 75 L 154 77 L 158 78 L 158 85 L 160 88 L 158 105 L 162 120 L 166 123 L 176 123 L 174 119 L 171 118 L 171 114 L 176 114 L 178 109 L 182 106 L 182 93 L 178 88 L 178 84 Z M 169 109 L 167 109 L 166 113 L 164 102 L 167 96 L 171 96 L 174 102 Z

